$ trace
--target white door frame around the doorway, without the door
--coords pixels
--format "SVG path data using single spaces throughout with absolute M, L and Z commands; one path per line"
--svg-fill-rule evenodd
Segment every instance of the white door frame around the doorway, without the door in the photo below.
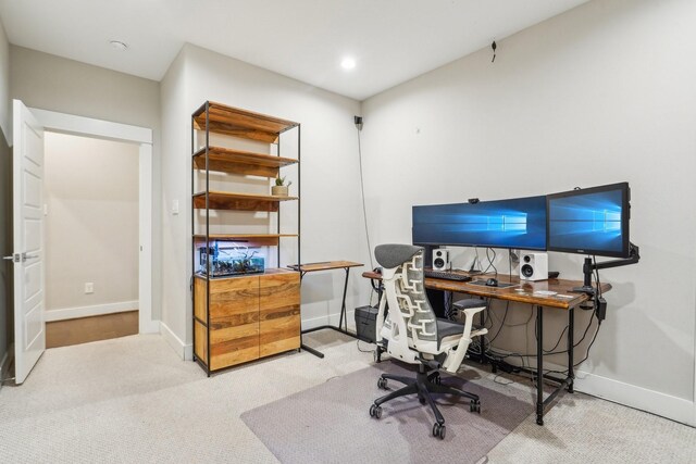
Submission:
M 156 334 L 160 322 L 152 319 L 152 129 L 110 121 L 29 108 L 44 128 L 53 133 L 137 143 L 138 168 L 138 331 Z

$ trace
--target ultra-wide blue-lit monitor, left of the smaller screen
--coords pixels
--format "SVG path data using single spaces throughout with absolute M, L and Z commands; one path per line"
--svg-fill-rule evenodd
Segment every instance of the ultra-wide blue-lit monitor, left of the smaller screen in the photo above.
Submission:
M 413 206 L 414 244 L 546 250 L 546 197 Z

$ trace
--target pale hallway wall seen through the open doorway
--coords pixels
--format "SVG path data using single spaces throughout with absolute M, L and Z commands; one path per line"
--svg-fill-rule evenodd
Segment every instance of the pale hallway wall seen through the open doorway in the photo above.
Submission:
M 137 309 L 138 167 L 137 145 L 46 133 L 47 319 Z

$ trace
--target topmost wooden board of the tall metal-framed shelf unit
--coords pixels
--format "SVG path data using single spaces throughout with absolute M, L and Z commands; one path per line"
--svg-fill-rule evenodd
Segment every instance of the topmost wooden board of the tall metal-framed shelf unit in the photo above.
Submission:
M 299 126 L 299 123 L 294 121 L 240 110 L 214 101 L 209 101 L 208 104 L 210 120 L 208 128 L 212 133 L 275 143 L 279 134 Z M 206 105 L 202 105 L 192 116 L 195 127 L 206 130 Z

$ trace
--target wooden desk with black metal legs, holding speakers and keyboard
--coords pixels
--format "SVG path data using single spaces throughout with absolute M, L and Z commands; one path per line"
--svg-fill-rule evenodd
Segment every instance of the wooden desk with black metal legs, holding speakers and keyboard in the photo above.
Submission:
M 463 275 L 468 275 L 465 272 L 461 272 Z M 374 272 L 365 272 L 363 277 L 371 279 L 381 279 L 382 275 Z M 512 284 L 512 287 L 487 287 L 484 285 L 473 284 L 476 280 L 487 280 L 489 277 L 495 277 L 500 284 Z M 536 340 L 536 372 L 532 374 L 536 375 L 536 423 L 544 425 L 544 413 L 548 405 L 554 401 L 560 391 L 564 388 L 569 392 L 573 392 L 573 380 L 575 378 L 573 366 L 573 330 L 575 322 L 575 308 L 589 300 L 589 297 L 584 293 L 572 293 L 571 290 L 574 287 L 582 287 L 582 281 L 566 280 L 566 279 L 548 279 L 539 281 L 520 281 L 517 276 L 510 277 L 507 275 L 487 274 L 487 275 L 472 275 L 471 281 L 457 281 L 457 280 L 444 280 L 426 277 L 425 287 L 436 290 L 451 291 L 457 293 L 474 294 L 483 298 L 495 298 L 497 300 L 515 301 L 519 303 L 527 303 L 536 306 L 536 333 L 539 334 Z M 611 290 L 611 285 L 602 283 L 601 291 L 606 292 Z M 555 291 L 557 294 L 542 294 L 535 293 L 538 291 Z M 559 297 L 569 296 L 572 298 Z M 568 312 L 568 375 L 566 378 L 558 378 L 548 374 L 544 374 L 544 308 L 551 308 L 556 310 L 564 310 Z M 483 350 L 482 350 L 483 351 Z M 551 380 L 558 384 L 558 387 L 544 399 L 543 383 L 539 380 Z

